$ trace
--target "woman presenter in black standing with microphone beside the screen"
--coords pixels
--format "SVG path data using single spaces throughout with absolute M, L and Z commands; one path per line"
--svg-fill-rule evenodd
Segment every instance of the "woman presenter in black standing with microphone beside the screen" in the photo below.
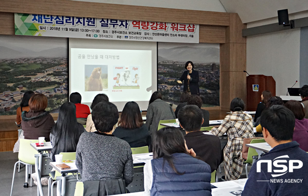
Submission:
M 185 64 L 185 69 L 183 75 L 177 81 L 179 84 L 183 84 L 184 81 L 184 89 L 183 92 L 190 92 L 191 94 L 200 95 L 199 91 L 199 72 L 194 70 L 194 64 L 191 61 L 187 61 Z

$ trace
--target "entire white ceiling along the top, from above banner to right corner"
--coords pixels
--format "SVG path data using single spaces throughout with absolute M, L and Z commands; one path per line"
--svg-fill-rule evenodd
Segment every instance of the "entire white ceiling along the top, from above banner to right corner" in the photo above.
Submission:
M 108 4 L 176 8 L 238 13 L 243 23 L 251 26 L 277 23 L 277 10 L 288 9 L 290 19 L 298 12 L 308 13 L 308 0 L 73 0 Z M 294 16 L 296 17 L 296 16 Z M 307 17 L 307 16 L 306 16 Z M 254 24 L 256 23 L 256 24 Z M 264 24 L 262 24 L 264 25 Z M 248 25 L 249 26 L 249 25 Z

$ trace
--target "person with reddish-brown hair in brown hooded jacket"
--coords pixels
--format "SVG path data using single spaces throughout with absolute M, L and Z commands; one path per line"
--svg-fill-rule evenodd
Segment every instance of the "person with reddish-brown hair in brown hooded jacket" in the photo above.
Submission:
M 45 111 L 48 105 L 44 94 L 34 94 L 29 100 L 29 111 L 22 113 L 22 127 L 25 139 L 37 140 L 45 137 L 50 142 L 49 134 L 54 125 L 53 117 Z

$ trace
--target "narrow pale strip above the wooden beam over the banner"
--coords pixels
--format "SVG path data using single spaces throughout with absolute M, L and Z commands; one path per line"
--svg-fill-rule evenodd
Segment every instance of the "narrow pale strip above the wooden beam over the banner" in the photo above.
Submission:
M 219 0 L 73 0 L 106 4 L 123 4 L 159 8 L 226 12 Z M 115 18 L 116 19 L 116 18 Z

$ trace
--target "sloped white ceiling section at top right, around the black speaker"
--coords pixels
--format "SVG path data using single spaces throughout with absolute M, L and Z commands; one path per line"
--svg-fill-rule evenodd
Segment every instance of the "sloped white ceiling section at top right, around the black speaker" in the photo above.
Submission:
M 277 17 L 277 10 L 288 9 L 289 14 L 308 10 L 308 0 L 220 0 L 220 2 L 227 12 L 238 13 L 243 23 Z

